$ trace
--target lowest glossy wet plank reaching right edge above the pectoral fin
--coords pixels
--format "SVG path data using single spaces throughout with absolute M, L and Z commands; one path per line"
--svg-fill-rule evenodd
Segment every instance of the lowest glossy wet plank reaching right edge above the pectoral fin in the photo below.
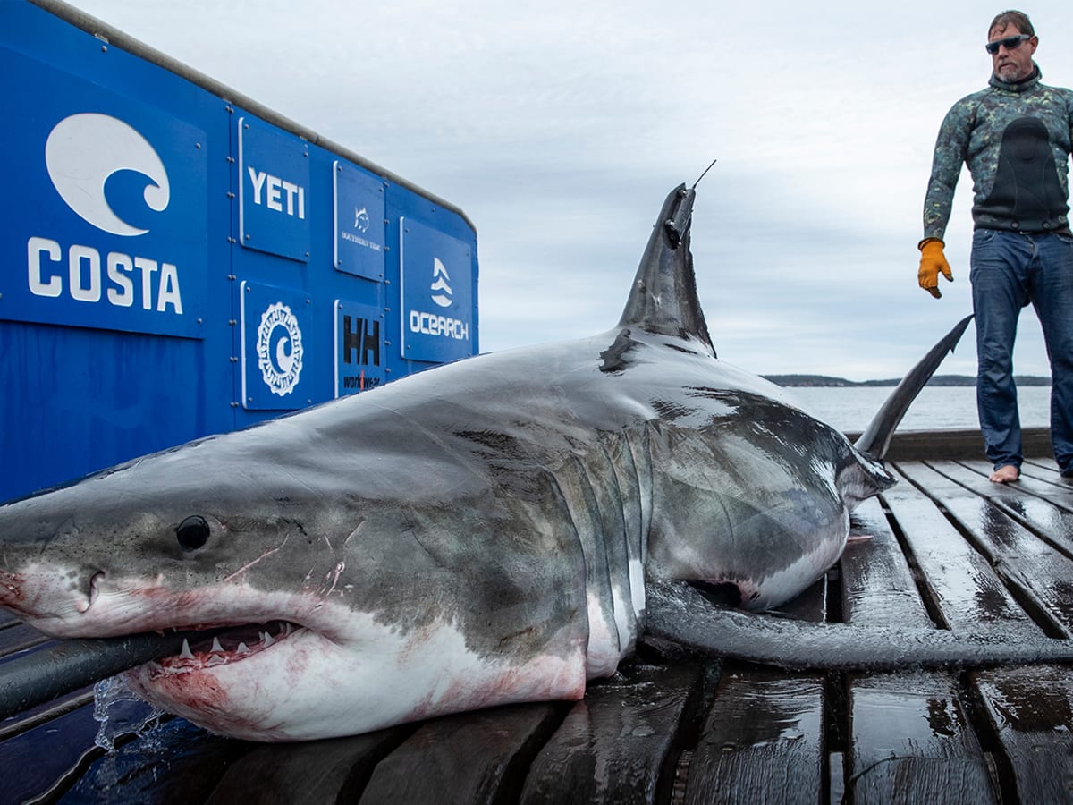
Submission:
M 972 535 L 973 546 L 1008 586 L 1016 586 L 1019 600 L 1030 602 L 1041 616 L 1048 617 L 1052 631 L 1068 636 L 1073 629 L 1073 559 L 1019 525 L 1000 507 L 935 469 L 916 465 L 912 477 Z

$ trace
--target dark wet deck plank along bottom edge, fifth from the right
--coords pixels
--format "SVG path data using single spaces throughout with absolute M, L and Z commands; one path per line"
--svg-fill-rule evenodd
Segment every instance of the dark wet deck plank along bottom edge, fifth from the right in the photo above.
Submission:
M 516 704 L 426 721 L 377 765 L 361 802 L 514 801 L 561 712 L 561 703 Z

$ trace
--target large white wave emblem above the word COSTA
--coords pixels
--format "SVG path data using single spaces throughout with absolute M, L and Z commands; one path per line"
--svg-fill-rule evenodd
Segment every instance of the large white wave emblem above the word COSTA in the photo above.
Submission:
M 45 143 L 48 178 L 60 197 L 83 220 L 113 235 L 144 235 L 112 209 L 104 194 L 109 177 L 135 171 L 150 181 L 143 197 L 162 213 L 171 201 L 167 172 L 160 156 L 136 130 L 118 118 L 87 112 L 60 120 Z

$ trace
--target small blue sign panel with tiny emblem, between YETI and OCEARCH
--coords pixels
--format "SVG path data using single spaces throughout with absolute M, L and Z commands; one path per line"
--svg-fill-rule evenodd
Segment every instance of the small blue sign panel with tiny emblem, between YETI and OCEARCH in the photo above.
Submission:
M 335 267 L 376 280 L 384 278 L 384 182 L 378 176 L 336 160 Z

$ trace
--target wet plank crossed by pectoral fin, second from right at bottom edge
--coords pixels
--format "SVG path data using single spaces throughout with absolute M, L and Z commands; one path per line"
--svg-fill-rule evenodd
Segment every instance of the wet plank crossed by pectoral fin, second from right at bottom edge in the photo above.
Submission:
M 912 499 L 905 488 L 900 495 Z M 934 627 L 888 524 L 874 518 L 873 525 L 877 538 L 851 545 L 843 557 L 846 621 L 892 630 Z M 953 675 L 853 674 L 848 682 L 844 788 L 854 802 L 996 801 Z

